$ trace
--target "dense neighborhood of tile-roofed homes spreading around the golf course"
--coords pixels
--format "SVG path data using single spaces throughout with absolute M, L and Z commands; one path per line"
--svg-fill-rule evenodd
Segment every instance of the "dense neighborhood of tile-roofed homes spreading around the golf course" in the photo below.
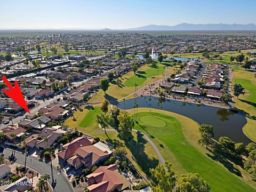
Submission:
M 223 52 L 252 49 L 256 46 L 254 38 L 244 35 L 215 38 L 207 35 L 148 34 L 2 37 L 0 53 L 6 55 L 0 54 L 0 73 L 12 84 L 15 81 L 19 83 L 31 114 L 0 91 L 1 147 L 25 153 L 26 161 L 32 161 L 30 157 L 33 157 L 41 162 L 50 162 L 58 174 L 65 175 L 75 191 L 85 188 L 89 192 L 151 191 L 147 180 L 129 158 L 114 150 L 109 142 L 79 132 L 76 127 L 68 127 L 65 120 L 71 117 L 76 121 L 76 111 L 91 107 L 87 101 L 100 90 L 102 79 L 110 82 L 121 78 L 133 70 L 133 63 L 138 67 L 150 65 L 138 56 L 145 49 L 154 48 L 157 54 Z M 42 45 L 45 42 L 47 44 Z M 79 46 L 66 47 L 64 42 Z M 65 51 L 53 54 L 57 52 L 56 47 L 63 47 Z M 69 51 L 75 54 L 68 54 Z M 220 57 L 218 59 L 221 60 Z M 231 69 L 227 65 L 202 60 L 178 63 L 175 59 L 173 64 L 180 64 L 180 67 L 168 76 L 163 73 L 160 83 L 149 84 L 143 95 L 193 99 L 198 103 L 204 100 L 226 103 L 230 100 Z M 255 70 L 255 63 L 250 68 Z M 2 82 L 0 88 L 7 90 Z M 26 163 L 25 166 L 18 164 L 12 157 L 10 161 L 1 159 L 0 181 L 26 181 L 27 185 L 0 186 L 0 191 L 53 191 L 50 187 L 54 186 L 53 178 L 48 186 L 47 175 L 31 170 Z M 80 179 L 86 180 L 86 186 L 76 185 Z M 33 181 L 34 186 L 31 185 Z

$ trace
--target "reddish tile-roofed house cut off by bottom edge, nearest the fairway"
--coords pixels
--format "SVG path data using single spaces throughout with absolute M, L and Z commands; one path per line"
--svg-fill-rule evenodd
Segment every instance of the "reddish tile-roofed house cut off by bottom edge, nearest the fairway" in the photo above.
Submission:
M 93 173 L 86 176 L 90 192 L 122 191 L 131 186 L 131 183 L 118 171 L 116 164 L 100 166 Z

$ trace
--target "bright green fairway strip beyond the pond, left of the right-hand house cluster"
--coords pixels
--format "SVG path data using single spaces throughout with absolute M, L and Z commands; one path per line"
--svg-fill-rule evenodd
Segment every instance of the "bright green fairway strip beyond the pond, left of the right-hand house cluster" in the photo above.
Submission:
M 152 76 L 160 76 L 164 72 L 164 65 L 157 63 L 157 67 L 150 67 L 146 70 L 139 70 L 124 82 L 125 86 L 134 86 L 134 83 L 141 85 L 146 81 L 146 78 Z

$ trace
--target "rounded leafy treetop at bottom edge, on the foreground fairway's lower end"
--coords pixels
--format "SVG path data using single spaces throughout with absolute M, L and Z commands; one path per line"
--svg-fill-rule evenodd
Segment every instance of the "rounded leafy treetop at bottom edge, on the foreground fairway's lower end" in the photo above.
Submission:
M 209 192 L 211 187 L 198 173 L 182 174 L 177 181 L 177 192 Z

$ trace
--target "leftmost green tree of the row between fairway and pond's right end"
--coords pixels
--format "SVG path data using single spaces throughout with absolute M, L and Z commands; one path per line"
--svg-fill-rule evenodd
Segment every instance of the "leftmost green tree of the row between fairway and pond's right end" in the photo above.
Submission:
M 206 145 L 207 147 L 212 143 L 212 139 L 214 137 L 213 126 L 202 124 L 199 127 L 199 133 L 201 134 L 201 138 L 198 140 L 199 144 Z

